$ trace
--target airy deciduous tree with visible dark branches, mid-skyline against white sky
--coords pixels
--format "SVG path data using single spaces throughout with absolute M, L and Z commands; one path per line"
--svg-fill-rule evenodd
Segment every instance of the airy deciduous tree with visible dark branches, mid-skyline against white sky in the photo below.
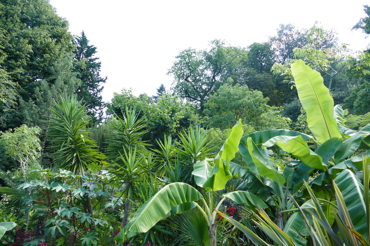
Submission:
M 188 48 L 181 51 L 168 70 L 168 74 L 174 75 L 174 92 L 196 103 L 201 112 L 209 96 L 226 81 L 225 78 L 221 80 L 226 71 L 238 66 L 240 57 L 246 52 L 240 47 L 225 46 L 220 40 L 213 40 L 210 45 L 209 50 Z

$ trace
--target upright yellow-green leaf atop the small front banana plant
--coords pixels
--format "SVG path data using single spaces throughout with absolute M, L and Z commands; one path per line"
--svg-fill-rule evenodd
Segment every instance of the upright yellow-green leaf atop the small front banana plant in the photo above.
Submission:
M 213 160 L 214 164 L 212 170 L 209 172 L 208 178 L 203 184 L 203 188 L 205 188 L 206 191 L 225 189 L 226 182 L 232 177 L 229 162 L 235 157 L 235 153 L 238 152 L 238 146 L 242 136 L 242 121 L 239 120 L 239 122 L 229 130 L 228 138 Z M 225 160 L 225 163 L 223 160 Z

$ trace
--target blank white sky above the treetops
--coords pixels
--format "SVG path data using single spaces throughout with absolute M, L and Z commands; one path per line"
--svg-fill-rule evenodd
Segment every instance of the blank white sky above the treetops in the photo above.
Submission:
M 113 92 L 132 88 L 134 95 L 154 95 L 163 83 L 174 57 L 188 47 L 204 49 L 208 42 L 224 39 L 247 47 L 276 35 L 279 24 L 310 28 L 320 21 L 334 28 L 339 42 L 364 49 L 370 42 L 361 31 L 351 31 L 365 17 L 364 0 L 50 0 L 57 14 L 70 23 L 73 35 L 82 30 L 97 47 L 101 75 L 108 76 L 102 92 L 110 101 Z

